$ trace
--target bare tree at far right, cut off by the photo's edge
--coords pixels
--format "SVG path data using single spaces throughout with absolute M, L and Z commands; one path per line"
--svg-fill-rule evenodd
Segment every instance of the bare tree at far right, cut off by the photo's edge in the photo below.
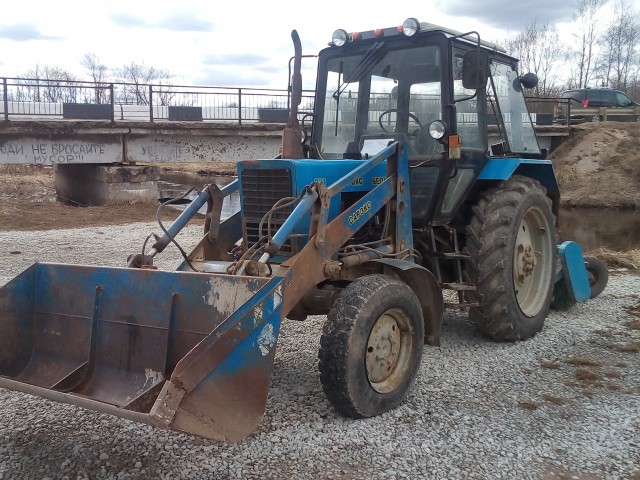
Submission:
M 626 0 L 618 0 L 603 37 L 603 77 L 607 86 L 626 89 L 638 63 L 640 16 Z

